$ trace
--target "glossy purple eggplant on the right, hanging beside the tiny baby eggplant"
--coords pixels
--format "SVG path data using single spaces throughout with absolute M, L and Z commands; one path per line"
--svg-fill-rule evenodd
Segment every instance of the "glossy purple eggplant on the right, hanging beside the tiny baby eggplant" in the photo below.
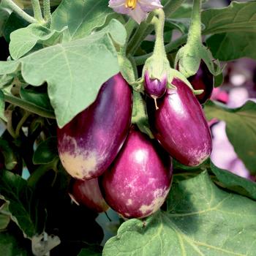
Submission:
M 148 119 L 154 137 L 183 165 L 200 165 L 211 154 L 211 133 L 200 103 L 192 90 L 174 78 L 176 89 L 167 89 L 159 110 L 147 99 Z

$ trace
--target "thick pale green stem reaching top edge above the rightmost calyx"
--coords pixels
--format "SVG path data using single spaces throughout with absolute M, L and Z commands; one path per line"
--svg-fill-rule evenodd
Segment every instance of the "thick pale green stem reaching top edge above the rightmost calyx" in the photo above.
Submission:
M 187 43 L 197 45 L 201 40 L 201 0 L 194 0 L 192 10 L 192 21 L 189 27 Z

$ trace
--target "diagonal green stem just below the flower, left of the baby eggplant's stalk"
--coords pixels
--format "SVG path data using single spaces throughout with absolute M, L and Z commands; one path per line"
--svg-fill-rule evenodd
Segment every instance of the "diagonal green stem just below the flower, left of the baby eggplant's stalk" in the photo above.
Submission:
M 148 18 L 143 21 L 143 23 L 140 23 L 140 26 L 138 26 L 138 29 L 135 31 L 135 34 L 132 36 L 132 39 L 130 40 L 128 47 L 127 47 L 127 53 L 130 53 L 131 55 L 134 55 L 136 50 L 138 50 L 141 42 L 144 39 L 144 34 L 146 29 L 151 23 L 152 18 L 154 17 L 153 13 L 150 13 L 148 15 Z

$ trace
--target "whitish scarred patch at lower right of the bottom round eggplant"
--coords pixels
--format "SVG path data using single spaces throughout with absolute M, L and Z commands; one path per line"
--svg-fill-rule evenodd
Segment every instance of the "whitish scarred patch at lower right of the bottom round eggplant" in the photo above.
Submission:
M 165 198 L 169 190 L 170 190 L 170 187 L 168 189 L 167 188 L 157 189 L 154 192 L 154 200 L 152 201 L 152 203 L 149 206 L 148 205 L 140 206 L 140 212 L 143 214 L 143 217 L 146 217 L 149 214 L 153 214 L 162 206 L 162 204 L 165 202 Z

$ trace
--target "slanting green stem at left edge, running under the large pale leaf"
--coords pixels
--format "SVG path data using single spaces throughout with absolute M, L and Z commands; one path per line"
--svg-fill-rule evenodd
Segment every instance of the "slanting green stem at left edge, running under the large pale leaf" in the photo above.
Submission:
M 6 102 L 9 102 L 13 105 L 16 105 L 20 108 L 28 110 L 31 113 L 35 113 L 39 116 L 46 117 L 46 118 L 53 118 L 53 119 L 56 118 L 53 111 L 46 110 L 45 108 L 41 108 L 37 105 L 34 105 L 31 102 L 26 102 L 25 100 L 20 99 L 20 98 L 15 97 L 15 96 L 12 96 L 10 94 L 4 94 L 4 100 Z

